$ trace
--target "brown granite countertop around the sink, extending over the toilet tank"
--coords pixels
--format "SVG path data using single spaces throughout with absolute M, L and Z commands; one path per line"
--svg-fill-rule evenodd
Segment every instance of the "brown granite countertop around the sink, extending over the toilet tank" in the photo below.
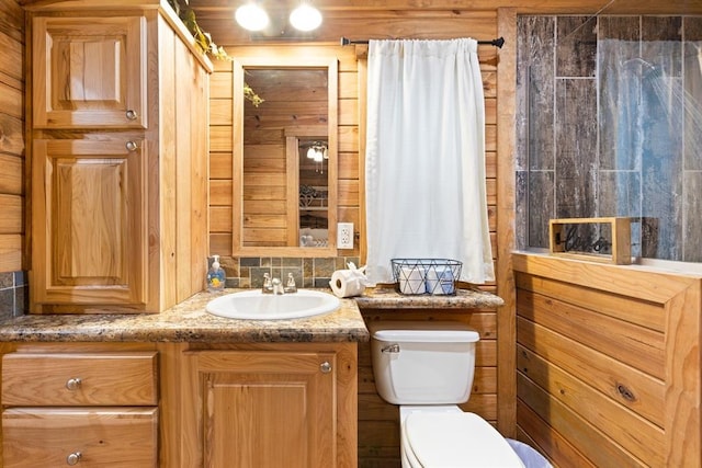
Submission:
M 472 309 L 503 304 L 494 294 L 457 289 L 455 296 L 406 296 L 392 287 L 366 288 L 341 299 L 331 312 L 291 320 L 239 320 L 213 316 L 205 305 L 235 293 L 203 292 L 161 313 L 26 315 L 0 321 L 0 341 L 10 342 L 364 342 L 369 331 L 359 309 Z

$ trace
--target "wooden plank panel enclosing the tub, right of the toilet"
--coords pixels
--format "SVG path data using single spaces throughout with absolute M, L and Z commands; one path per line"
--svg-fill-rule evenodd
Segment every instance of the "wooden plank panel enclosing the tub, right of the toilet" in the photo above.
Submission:
M 517 424 L 561 467 L 700 467 L 702 277 L 514 255 Z

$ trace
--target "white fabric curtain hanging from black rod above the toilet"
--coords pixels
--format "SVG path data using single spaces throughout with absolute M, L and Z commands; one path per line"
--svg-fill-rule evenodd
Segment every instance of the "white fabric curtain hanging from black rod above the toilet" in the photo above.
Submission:
M 367 270 L 452 259 L 494 279 L 485 191 L 485 101 L 477 42 L 371 41 L 365 155 Z

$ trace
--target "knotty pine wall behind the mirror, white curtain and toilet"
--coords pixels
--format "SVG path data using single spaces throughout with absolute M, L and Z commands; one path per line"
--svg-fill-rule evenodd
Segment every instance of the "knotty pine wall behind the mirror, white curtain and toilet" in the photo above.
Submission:
M 415 12 L 416 13 L 416 12 Z M 506 35 L 508 46 L 498 52 L 492 46 L 479 46 L 479 61 L 483 73 L 486 107 L 486 185 L 489 212 L 490 237 L 496 262 L 500 254 L 497 236 L 498 209 L 498 68 L 500 55 L 506 64 L 513 66 L 513 31 L 502 27 L 498 31 L 498 12 L 433 12 L 418 15 L 407 12 L 403 18 L 384 19 L 383 35 L 412 38 L 452 38 L 472 36 L 494 38 Z M 377 14 L 367 21 L 354 18 L 358 25 L 352 31 L 354 37 L 378 36 Z M 514 25 L 516 16 L 508 15 L 505 23 Z M 375 21 L 373 21 L 375 20 Z M 364 26 L 367 24 L 367 26 Z M 513 28 L 513 26 L 512 26 Z M 409 33 L 411 32 L 411 34 Z M 339 32 L 340 34 L 343 31 Z M 511 34 L 511 36 L 510 36 Z M 509 42 L 511 41 L 511 44 Z M 235 49 L 240 44 L 225 45 Z M 356 230 L 363 233 L 363 119 L 365 95 L 365 67 L 367 46 L 340 46 L 331 44 L 286 45 L 276 44 L 250 47 L 263 47 L 267 55 L 274 47 L 275 53 L 291 56 L 295 54 L 315 56 L 336 56 L 339 60 L 339 161 L 338 161 L 338 219 L 353 221 Z M 505 64 L 503 64 L 505 65 Z M 513 72 L 506 73 L 507 83 L 513 88 Z M 231 196 L 233 196 L 233 132 L 231 125 L 231 67 L 226 61 L 215 62 L 215 72 L 211 80 L 211 252 L 225 255 L 224 264 L 237 273 L 238 260 L 231 255 Z M 510 84 L 506 83 L 506 89 Z M 263 96 L 264 98 L 264 96 Z M 503 109 L 509 121 L 509 102 Z M 511 132 L 511 130 L 510 130 Z M 508 146 L 509 147 L 509 146 Z M 506 151 L 505 159 L 510 157 Z M 509 173 L 506 184 L 513 186 Z M 506 206 L 511 206 L 509 196 L 503 197 Z M 509 218 L 506 217 L 506 220 Z M 360 229 L 359 229 L 360 227 Z M 506 238 L 507 239 L 507 238 Z M 361 243 L 363 239 L 361 239 Z M 346 253 L 346 252 L 344 252 Z M 355 255 L 363 255 L 356 244 Z M 498 264 L 499 270 L 499 264 Z M 484 286 L 498 292 L 497 283 Z M 482 336 L 477 347 L 477 368 L 473 395 L 464 409 L 474 411 L 511 435 L 514 426 L 514 386 L 513 386 L 513 336 L 508 326 L 501 341 L 499 323 L 509 323 L 506 317 L 498 317 L 496 310 L 362 310 L 366 320 L 458 320 L 474 327 Z M 499 359 L 498 366 L 498 356 Z M 500 366 L 502 366 L 500 374 Z M 399 427 L 398 407 L 384 402 L 375 390 L 369 344 L 361 343 L 359 350 L 359 466 L 360 467 L 399 467 Z

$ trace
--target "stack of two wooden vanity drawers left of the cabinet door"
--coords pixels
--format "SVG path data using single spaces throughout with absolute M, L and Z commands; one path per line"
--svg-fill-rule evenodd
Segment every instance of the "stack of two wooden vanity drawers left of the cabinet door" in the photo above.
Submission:
M 2 406 L 5 468 L 158 466 L 154 351 L 4 354 Z

